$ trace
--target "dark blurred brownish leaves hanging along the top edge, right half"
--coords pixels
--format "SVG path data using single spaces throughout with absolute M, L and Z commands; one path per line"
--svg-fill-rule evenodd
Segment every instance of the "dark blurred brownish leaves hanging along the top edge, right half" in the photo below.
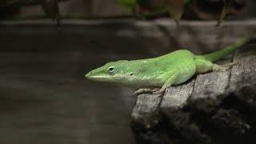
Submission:
M 128 7 L 129 0 L 116 0 L 122 6 Z M 179 19 L 218 19 L 218 25 L 226 16 L 242 14 L 248 6 L 249 0 L 130 0 L 134 13 L 144 18 L 158 17 L 170 14 L 178 23 Z M 184 8 L 185 7 L 185 8 Z

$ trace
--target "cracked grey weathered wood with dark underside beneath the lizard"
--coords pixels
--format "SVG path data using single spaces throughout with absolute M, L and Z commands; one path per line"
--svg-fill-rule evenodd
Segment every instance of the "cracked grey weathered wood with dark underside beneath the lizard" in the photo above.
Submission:
M 254 143 L 256 45 L 221 63 L 230 70 L 199 74 L 162 96 L 138 95 L 132 130 L 139 144 Z

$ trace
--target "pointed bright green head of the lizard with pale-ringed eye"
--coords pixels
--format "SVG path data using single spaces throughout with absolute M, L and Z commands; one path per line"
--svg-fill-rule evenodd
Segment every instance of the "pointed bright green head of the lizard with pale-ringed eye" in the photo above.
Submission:
M 98 82 L 126 83 L 133 76 L 130 61 L 121 60 L 117 62 L 108 62 L 104 66 L 91 70 L 85 76 L 86 78 Z

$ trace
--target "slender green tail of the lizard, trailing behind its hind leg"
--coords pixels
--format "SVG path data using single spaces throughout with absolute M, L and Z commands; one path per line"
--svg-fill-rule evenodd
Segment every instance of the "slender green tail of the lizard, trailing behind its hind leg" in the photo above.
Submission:
M 230 54 L 234 50 L 237 50 L 238 48 L 241 48 L 242 46 L 246 45 L 247 42 L 250 42 L 250 39 L 242 39 L 214 53 L 198 55 L 197 58 L 204 58 L 210 62 L 215 62 L 215 61 L 218 61 L 218 59 L 226 57 L 228 54 Z

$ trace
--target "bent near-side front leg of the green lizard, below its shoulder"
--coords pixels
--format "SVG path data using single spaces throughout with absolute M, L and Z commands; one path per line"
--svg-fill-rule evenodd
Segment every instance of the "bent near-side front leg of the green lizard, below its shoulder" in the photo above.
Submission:
M 164 85 L 161 87 L 160 90 L 154 92 L 153 94 L 162 94 L 166 90 L 168 86 L 172 86 L 178 79 L 178 70 L 171 70 L 160 77 L 162 81 L 166 80 Z

